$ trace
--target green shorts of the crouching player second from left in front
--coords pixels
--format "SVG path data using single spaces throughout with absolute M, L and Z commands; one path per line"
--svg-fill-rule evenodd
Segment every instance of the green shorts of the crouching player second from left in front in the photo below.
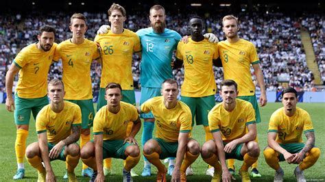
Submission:
M 94 143 L 94 140 L 91 140 Z M 125 149 L 128 146 L 132 146 L 134 144 L 130 144 L 129 142 L 125 142 L 124 140 L 104 140 L 103 141 L 103 159 L 106 158 L 116 158 L 116 159 L 126 159 L 126 155 L 124 155 Z

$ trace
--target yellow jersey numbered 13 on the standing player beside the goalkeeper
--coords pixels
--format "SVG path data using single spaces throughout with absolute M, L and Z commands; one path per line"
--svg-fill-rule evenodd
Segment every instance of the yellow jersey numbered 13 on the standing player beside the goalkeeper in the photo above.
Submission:
M 176 57 L 184 62 L 184 82 L 181 95 L 201 97 L 214 95 L 217 86 L 213 72 L 213 60 L 219 57 L 217 44 L 204 39 L 188 43 L 178 42 Z

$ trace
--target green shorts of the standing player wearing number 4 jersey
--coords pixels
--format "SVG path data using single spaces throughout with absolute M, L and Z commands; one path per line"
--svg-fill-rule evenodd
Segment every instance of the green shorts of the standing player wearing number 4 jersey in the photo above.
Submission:
M 71 103 L 79 105 L 82 110 L 82 129 L 90 129 L 93 127 L 93 120 L 95 116 L 95 110 L 93 105 L 93 99 L 88 100 L 65 100 Z

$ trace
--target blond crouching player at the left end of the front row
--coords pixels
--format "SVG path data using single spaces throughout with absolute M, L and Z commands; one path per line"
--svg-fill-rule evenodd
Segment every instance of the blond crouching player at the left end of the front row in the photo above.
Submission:
M 36 118 L 38 142 L 29 144 L 26 158 L 38 170 L 38 181 L 56 181 L 50 161 L 67 162 L 69 181 L 77 181 L 75 167 L 80 158 L 77 142 L 81 131 L 80 107 L 63 101 L 64 85 L 59 79 L 49 82 L 49 105 L 43 107 Z M 45 168 L 42 165 L 44 163 Z

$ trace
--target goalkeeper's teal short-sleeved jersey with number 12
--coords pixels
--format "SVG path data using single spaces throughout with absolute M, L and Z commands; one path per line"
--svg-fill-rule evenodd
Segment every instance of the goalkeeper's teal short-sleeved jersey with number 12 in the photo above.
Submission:
M 180 34 L 171 29 L 165 29 L 163 34 L 156 34 L 152 27 L 136 31 L 142 46 L 141 86 L 160 88 L 165 79 L 172 78 L 171 57 Z

